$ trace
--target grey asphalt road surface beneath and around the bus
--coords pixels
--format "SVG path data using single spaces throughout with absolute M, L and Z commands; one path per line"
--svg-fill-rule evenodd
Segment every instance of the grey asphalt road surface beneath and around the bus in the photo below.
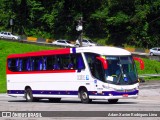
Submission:
M 109 117 L 108 114 L 115 113 L 114 111 L 122 112 L 127 114 L 131 114 L 132 111 L 138 111 L 140 114 L 145 114 L 143 111 L 159 111 L 158 114 L 160 115 L 160 81 L 152 81 L 152 82 L 145 82 L 140 84 L 140 94 L 137 99 L 121 99 L 117 104 L 109 104 L 105 100 L 95 100 L 91 104 L 82 104 L 79 99 L 71 99 L 71 98 L 65 98 L 62 99 L 60 103 L 52 103 L 48 100 L 40 100 L 39 102 L 26 102 L 23 98 L 13 98 L 10 96 L 7 96 L 7 94 L 0 94 L 0 116 L 2 116 L 2 112 L 5 111 L 23 111 L 23 112 L 31 112 L 31 111 L 51 111 L 50 114 L 54 114 L 54 111 L 70 111 L 69 114 L 75 115 L 77 114 L 74 111 L 94 111 L 93 113 L 83 113 L 78 117 L 41 117 L 40 114 L 37 114 L 38 118 L 21 118 L 21 117 L 14 117 L 8 118 L 8 117 L 1 117 L 1 120 L 59 120 L 59 119 L 83 119 L 83 120 L 135 120 L 135 119 L 145 119 L 145 120 L 159 120 L 160 117 Z M 96 112 L 97 111 L 97 112 Z M 106 111 L 106 117 L 96 117 L 93 114 L 99 113 L 99 111 Z M 126 112 L 125 112 L 126 111 Z M 127 112 L 130 111 L 130 112 Z M 103 113 L 103 112 L 102 112 Z M 21 113 L 22 114 L 22 113 Z M 28 114 L 28 113 L 25 113 Z M 24 115 L 25 115 L 24 114 Z M 58 116 L 63 116 L 63 114 L 66 114 L 65 112 L 56 113 Z M 59 115 L 61 114 L 61 115 Z M 92 114 L 90 117 L 84 117 L 86 114 Z M 101 113 L 100 113 L 101 114 Z M 148 114 L 148 113 L 147 113 Z

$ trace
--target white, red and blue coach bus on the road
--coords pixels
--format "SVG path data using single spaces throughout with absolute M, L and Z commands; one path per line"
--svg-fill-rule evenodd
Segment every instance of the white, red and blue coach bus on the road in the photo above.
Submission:
M 7 57 L 6 78 L 9 96 L 26 101 L 80 98 L 82 103 L 137 98 L 139 81 L 135 60 L 143 60 L 122 48 L 94 46 L 60 48 Z

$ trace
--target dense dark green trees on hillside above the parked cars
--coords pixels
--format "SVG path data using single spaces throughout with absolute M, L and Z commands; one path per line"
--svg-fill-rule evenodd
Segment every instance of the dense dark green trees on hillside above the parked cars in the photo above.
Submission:
M 0 0 L 0 4 L 0 31 L 76 40 L 77 21 L 83 17 L 83 35 L 98 43 L 160 46 L 160 0 Z

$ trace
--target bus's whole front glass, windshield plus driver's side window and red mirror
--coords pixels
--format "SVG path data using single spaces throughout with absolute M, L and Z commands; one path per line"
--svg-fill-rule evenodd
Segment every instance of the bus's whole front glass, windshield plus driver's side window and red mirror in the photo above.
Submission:
M 94 78 L 115 85 L 138 83 L 137 69 L 131 55 L 107 56 L 85 53 L 85 56 Z

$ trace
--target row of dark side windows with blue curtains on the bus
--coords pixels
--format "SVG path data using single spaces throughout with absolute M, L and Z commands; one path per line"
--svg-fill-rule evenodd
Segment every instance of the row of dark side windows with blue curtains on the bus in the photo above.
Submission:
M 13 58 L 7 60 L 10 71 L 85 69 L 81 54 Z

